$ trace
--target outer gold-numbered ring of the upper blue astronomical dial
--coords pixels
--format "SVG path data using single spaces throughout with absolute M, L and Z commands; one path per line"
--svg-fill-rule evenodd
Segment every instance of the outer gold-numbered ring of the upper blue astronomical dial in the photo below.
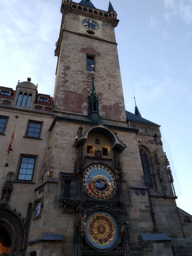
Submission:
M 107 179 L 110 177 L 111 179 L 111 190 L 110 191 L 106 191 L 106 194 L 102 194 L 102 195 L 98 195 L 96 193 L 94 193 L 94 190 L 91 188 L 91 181 L 94 177 L 98 176 L 99 175 L 104 175 L 102 172 L 101 173 L 97 173 L 95 172 L 95 175 L 93 174 L 94 171 L 94 168 L 100 168 L 100 169 L 104 169 L 105 172 L 108 174 L 108 177 Z M 92 173 L 91 173 L 92 172 Z M 88 182 L 88 179 L 87 177 L 89 176 L 89 174 L 91 174 L 91 178 L 90 178 L 90 182 Z M 83 177 L 83 185 L 84 185 L 84 188 L 87 192 L 87 194 L 89 196 L 91 196 L 92 198 L 95 198 L 95 199 L 100 199 L 100 200 L 104 200 L 104 199 L 108 199 L 109 197 L 111 197 L 112 195 L 114 195 L 114 192 L 116 190 L 116 179 L 115 179 L 115 176 L 113 174 L 113 172 L 106 166 L 102 165 L 102 164 L 94 164 L 94 165 L 91 165 L 89 166 L 86 171 L 84 172 L 84 177 Z

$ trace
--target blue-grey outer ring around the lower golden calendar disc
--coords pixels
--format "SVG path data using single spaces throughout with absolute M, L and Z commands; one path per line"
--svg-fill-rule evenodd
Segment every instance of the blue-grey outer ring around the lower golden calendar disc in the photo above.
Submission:
M 95 243 L 91 236 L 89 235 L 89 232 L 90 232 L 90 226 L 89 224 L 91 223 L 92 220 L 94 220 L 95 216 L 97 215 L 101 215 L 101 216 L 107 216 L 108 219 L 110 220 L 110 222 L 112 222 L 113 224 L 113 228 L 115 229 L 115 232 L 113 234 L 113 238 L 112 240 L 108 243 L 108 244 L 104 244 L 104 245 L 100 245 L 98 243 Z M 100 224 L 102 225 L 102 223 Z M 93 231 L 98 232 L 98 227 L 96 227 L 97 225 L 93 225 Z M 109 229 L 108 227 L 106 227 L 106 229 Z M 103 232 L 106 232 L 106 229 L 103 228 Z M 112 232 L 113 233 L 113 232 Z M 108 233 L 106 233 L 106 235 L 108 235 Z M 117 221 L 115 220 L 115 218 L 108 212 L 105 212 L 105 211 L 96 211 L 96 212 L 92 212 L 87 220 L 86 220 L 86 225 L 85 225 L 85 236 L 86 236 L 86 240 L 87 242 L 95 249 L 97 250 L 111 250 L 114 246 L 116 246 L 116 242 L 117 240 L 119 240 L 119 228 L 118 228 L 118 224 L 117 224 Z

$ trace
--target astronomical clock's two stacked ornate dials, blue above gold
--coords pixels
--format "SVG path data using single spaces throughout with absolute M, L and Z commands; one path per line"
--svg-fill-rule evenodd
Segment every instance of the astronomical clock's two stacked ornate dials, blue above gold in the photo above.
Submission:
M 114 171 L 106 164 L 90 165 L 83 174 L 84 191 L 94 205 L 86 215 L 85 240 L 99 251 L 112 250 L 120 239 L 118 216 L 107 207 L 116 194 L 116 179 Z

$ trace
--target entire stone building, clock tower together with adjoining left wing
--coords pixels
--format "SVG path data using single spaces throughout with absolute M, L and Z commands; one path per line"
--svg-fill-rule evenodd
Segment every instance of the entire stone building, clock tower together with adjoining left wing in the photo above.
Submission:
M 116 12 L 84 0 L 63 0 L 61 12 L 54 103 L 30 78 L 0 87 L 0 246 L 11 256 L 192 255 L 192 216 L 176 205 L 159 125 L 125 111 Z

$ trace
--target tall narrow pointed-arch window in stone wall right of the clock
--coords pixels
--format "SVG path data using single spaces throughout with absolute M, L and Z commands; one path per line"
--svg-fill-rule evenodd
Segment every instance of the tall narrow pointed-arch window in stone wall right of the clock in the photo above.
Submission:
M 150 169 L 149 169 L 149 163 L 148 163 L 148 157 L 146 152 L 141 148 L 140 149 L 140 158 L 141 158 L 141 164 L 143 168 L 143 180 L 144 184 L 148 188 L 152 188 L 152 180 L 151 180 L 151 174 L 150 174 Z

